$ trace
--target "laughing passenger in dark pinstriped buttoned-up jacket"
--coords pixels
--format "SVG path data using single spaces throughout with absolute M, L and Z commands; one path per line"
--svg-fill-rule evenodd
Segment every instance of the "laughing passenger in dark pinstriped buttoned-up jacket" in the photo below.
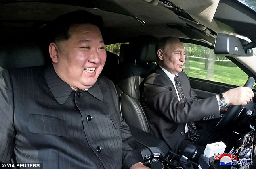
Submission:
M 145 169 L 120 117 L 113 83 L 101 76 L 101 17 L 75 11 L 55 20 L 52 65 L 3 70 L 0 161 L 44 169 Z

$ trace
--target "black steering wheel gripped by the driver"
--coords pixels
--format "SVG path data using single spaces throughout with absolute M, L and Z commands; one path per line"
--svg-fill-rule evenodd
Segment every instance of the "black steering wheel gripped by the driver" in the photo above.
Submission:
M 249 77 L 246 81 L 245 87 L 250 87 L 252 89 L 252 86 L 254 84 L 254 78 Z M 226 111 L 226 113 L 222 116 L 218 124 L 216 124 L 217 128 L 222 128 L 229 124 L 229 122 L 233 122 L 237 119 L 237 117 L 240 115 L 241 111 L 243 110 L 244 106 L 242 105 L 235 105 L 230 106 L 229 109 Z

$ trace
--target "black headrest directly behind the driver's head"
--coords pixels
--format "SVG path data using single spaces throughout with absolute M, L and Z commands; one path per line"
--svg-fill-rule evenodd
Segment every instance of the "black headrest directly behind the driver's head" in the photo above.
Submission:
M 134 59 L 139 63 L 156 62 L 155 45 L 157 38 L 153 36 L 140 36 L 130 43 L 134 52 Z

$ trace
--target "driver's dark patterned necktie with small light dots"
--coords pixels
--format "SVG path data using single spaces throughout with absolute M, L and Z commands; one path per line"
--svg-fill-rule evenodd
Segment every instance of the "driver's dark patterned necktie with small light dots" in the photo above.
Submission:
M 178 91 L 178 95 L 180 97 L 180 103 L 186 103 L 187 100 L 185 98 L 184 92 L 183 92 L 183 90 L 181 88 L 181 85 L 180 85 L 180 80 L 178 79 L 177 75 L 175 75 L 174 81 L 175 81 L 175 85 L 176 85 L 176 88 L 177 88 L 177 91 Z M 187 123 L 187 126 L 188 126 L 188 138 L 189 138 L 189 140 L 193 143 L 197 143 L 197 141 L 199 140 L 199 134 L 197 132 L 197 128 L 195 126 L 195 123 L 194 122 Z

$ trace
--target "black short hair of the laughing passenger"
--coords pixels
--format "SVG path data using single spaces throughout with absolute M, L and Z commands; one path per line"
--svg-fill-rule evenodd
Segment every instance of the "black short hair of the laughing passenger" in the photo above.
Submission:
M 69 39 L 69 28 L 75 24 L 90 23 L 99 27 L 101 33 L 103 29 L 103 19 L 85 10 L 69 12 L 57 17 L 53 23 L 53 41 L 63 41 Z

